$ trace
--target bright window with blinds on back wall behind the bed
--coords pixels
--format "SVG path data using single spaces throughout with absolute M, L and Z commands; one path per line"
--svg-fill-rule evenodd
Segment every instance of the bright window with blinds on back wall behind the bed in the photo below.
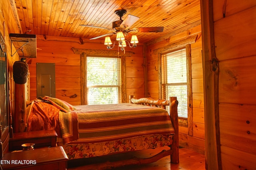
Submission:
M 88 105 L 120 103 L 120 68 L 119 58 L 86 58 Z

